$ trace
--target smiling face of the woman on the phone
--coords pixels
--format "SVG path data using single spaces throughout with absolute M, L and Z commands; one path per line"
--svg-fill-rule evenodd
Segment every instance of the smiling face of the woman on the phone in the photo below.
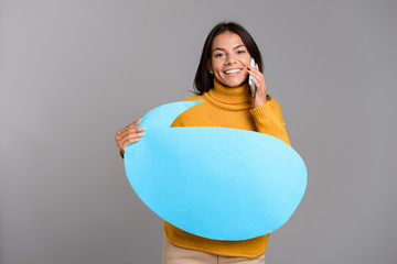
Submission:
M 242 37 L 226 31 L 214 37 L 207 68 L 228 87 L 240 86 L 248 76 L 250 55 Z

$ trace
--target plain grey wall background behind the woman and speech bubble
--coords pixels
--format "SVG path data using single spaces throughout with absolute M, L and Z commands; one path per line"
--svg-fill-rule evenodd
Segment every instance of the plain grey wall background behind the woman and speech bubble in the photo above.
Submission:
M 222 20 L 258 43 L 309 168 L 267 263 L 396 263 L 396 1 L 3 0 L 0 263 L 160 263 L 114 136 L 190 96 Z

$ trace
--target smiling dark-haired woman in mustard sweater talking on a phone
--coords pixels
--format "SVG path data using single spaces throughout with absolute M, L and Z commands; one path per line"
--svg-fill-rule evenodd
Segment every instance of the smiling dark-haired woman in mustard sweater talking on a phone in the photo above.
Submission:
M 250 67 L 250 58 L 257 62 Z M 196 76 L 195 96 L 185 100 L 203 102 L 176 118 L 172 127 L 224 127 L 258 131 L 290 144 L 278 102 L 267 95 L 262 58 L 249 33 L 237 23 L 219 23 L 208 34 Z M 248 85 L 253 77 L 256 92 Z M 127 145 L 144 135 L 140 120 L 116 134 L 121 155 Z M 205 164 L 203 165 L 205 166 Z M 164 222 L 163 264 L 265 263 L 266 234 L 245 241 L 201 238 Z

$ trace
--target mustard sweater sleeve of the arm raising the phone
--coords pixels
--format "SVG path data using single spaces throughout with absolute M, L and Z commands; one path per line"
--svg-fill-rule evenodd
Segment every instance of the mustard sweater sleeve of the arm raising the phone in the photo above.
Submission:
M 250 110 L 258 132 L 272 135 L 291 145 L 279 103 L 271 98 L 264 106 Z

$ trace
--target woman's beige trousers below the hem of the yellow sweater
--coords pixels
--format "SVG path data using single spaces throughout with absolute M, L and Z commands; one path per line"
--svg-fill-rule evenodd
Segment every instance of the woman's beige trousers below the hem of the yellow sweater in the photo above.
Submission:
M 179 248 L 164 235 L 162 264 L 265 264 L 265 254 L 256 258 L 214 255 Z

